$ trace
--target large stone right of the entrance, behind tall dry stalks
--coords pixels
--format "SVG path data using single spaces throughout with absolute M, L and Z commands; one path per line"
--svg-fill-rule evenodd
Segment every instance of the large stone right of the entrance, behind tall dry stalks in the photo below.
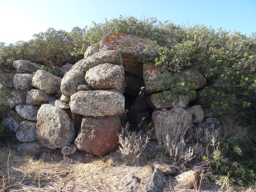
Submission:
M 186 130 L 191 127 L 192 114 L 183 108 L 171 108 L 166 111 L 155 110 L 152 114 L 152 121 L 155 125 L 156 137 L 159 142 L 166 143 L 169 139 L 184 137 Z M 173 141 L 175 142 L 175 141 Z

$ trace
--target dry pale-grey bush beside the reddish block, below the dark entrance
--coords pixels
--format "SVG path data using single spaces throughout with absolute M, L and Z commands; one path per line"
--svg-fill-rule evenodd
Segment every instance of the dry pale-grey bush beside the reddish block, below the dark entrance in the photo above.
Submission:
M 125 128 L 122 127 L 119 134 L 119 150 L 122 158 L 127 159 L 128 164 L 140 163 L 145 160 L 144 149 L 149 142 L 150 137 L 140 131 L 139 133 L 128 131 L 129 123 Z

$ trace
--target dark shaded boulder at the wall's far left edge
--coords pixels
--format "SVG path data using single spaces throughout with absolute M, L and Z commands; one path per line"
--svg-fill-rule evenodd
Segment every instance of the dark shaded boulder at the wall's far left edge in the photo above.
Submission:
M 2 120 L 4 124 L 9 127 L 9 130 L 14 132 L 16 132 L 19 124 L 24 121 L 24 119 L 20 117 L 20 115 L 15 110 L 10 110 L 6 112 Z

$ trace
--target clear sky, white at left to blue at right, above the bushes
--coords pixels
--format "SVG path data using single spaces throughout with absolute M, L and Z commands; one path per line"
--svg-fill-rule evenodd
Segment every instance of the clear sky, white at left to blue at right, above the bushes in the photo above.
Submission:
M 119 15 L 256 32 L 256 0 L 0 0 L 0 42 L 28 41 L 49 27 L 71 31 Z

